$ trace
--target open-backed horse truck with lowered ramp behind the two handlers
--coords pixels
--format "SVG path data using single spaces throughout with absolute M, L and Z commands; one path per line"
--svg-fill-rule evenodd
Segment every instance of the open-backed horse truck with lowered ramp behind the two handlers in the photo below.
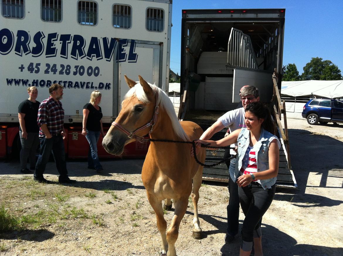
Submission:
M 184 94 L 184 108 L 235 109 L 244 85 L 258 87 L 260 100 L 279 108 L 276 94 L 281 90 L 284 26 L 285 9 L 182 10 L 180 92 Z M 181 119 L 186 110 L 180 112 Z M 294 187 L 287 151 L 283 143 L 277 184 Z M 223 157 L 222 152 L 210 152 L 206 161 L 213 163 L 218 157 Z M 225 163 L 204 168 L 203 173 L 207 180 L 228 179 Z

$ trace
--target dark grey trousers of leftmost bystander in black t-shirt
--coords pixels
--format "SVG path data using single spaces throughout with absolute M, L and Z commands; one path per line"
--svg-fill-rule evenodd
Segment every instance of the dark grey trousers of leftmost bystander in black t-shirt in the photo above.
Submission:
M 25 169 L 27 158 L 30 163 L 30 168 L 36 166 L 36 153 L 39 145 L 38 132 L 28 132 L 27 139 L 23 138 L 23 132 L 19 131 L 20 142 L 22 149 L 20 150 L 20 168 Z

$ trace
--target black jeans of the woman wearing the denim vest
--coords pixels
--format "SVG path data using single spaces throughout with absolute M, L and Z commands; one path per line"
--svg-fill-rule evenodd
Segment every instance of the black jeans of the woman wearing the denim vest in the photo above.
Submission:
M 257 182 L 252 182 L 248 186 L 238 187 L 240 206 L 245 215 L 242 226 L 242 240 L 244 242 L 253 241 L 254 230 L 260 227 L 260 220 L 268 210 L 275 195 L 275 184 L 271 188 L 263 189 Z

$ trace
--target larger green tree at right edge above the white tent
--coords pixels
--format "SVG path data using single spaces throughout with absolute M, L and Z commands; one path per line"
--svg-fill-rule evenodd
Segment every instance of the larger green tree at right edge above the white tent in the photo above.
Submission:
M 316 57 L 304 66 L 303 80 L 340 80 L 341 71 L 330 60 Z

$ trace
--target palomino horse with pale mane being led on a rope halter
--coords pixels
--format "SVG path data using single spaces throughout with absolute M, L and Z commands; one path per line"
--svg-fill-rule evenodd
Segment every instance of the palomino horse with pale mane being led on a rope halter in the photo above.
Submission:
M 122 154 L 126 144 L 134 139 L 140 140 L 149 131 L 152 139 L 192 141 L 201 136 L 203 131 L 196 123 L 178 121 L 169 97 L 160 88 L 145 82 L 141 76 L 139 82 L 127 76 L 125 80 L 131 89 L 122 101 L 117 119 L 103 139 L 103 146 L 108 153 Z M 162 254 L 167 256 L 176 255 L 175 242 L 190 194 L 194 205 L 193 236 L 201 238 L 198 200 L 203 167 L 191 157 L 191 146 L 151 142 L 142 168 L 142 181 L 161 233 Z M 204 162 L 205 150 L 202 148 L 197 156 Z M 164 199 L 164 208 L 171 208 L 171 199 L 175 205 L 173 220 L 167 232 L 162 207 Z

